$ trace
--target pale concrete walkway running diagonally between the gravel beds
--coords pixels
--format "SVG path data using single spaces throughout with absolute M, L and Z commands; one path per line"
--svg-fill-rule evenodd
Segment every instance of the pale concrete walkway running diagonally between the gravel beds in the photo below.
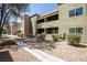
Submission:
M 25 50 L 26 52 L 31 53 L 32 55 L 34 55 L 37 59 L 42 61 L 42 62 L 65 62 L 62 61 L 57 57 L 54 57 L 50 54 L 46 54 L 44 52 L 42 52 L 41 50 L 37 48 L 31 48 L 31 46 L 28 46 L 25 43 L 23 42 L 18 42 L 18 45 L 21 46 L 23 50 Z

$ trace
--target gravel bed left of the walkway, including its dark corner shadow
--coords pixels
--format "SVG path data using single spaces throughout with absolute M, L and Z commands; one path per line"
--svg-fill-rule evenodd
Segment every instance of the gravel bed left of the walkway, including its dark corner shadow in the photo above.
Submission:
M 21 47 L 0 50 L 0 62 L 39 62 L 32 54 Z

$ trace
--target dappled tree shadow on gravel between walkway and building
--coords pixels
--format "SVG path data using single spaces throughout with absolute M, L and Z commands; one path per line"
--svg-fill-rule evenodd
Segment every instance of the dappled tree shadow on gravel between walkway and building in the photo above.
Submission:
M 53 41 L 40 41 L 37 42 L 34 39 L 28 39 L 22 40 L 23 43 L 26 43 L 28 45 L 32 46 L 33 48 L 40 48 L 40 50 L 51 50 L 55 48 L 55 44 Z

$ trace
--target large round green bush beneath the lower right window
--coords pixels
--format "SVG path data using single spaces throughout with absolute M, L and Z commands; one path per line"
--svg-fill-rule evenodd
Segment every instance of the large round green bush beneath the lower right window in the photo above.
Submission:
M 68 34 L 67 35 L 67 41 L 69 44 L 73 44 L 73 45 L 78 45 L 79 42 L 80 42 L 80 35 L 79 34 Z

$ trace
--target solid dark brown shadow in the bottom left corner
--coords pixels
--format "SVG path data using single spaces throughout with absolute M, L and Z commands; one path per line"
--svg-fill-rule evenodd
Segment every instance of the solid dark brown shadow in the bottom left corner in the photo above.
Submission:
M 9 51 L 0 52 L 0 62 L 13 62 Z

